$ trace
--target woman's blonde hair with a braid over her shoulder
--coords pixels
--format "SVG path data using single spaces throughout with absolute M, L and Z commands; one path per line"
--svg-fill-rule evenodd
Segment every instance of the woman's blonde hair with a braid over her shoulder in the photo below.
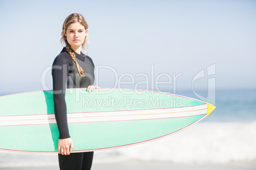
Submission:
M 82 16 L 81 14 L 72 13 L 71 15 L 69 15 L 69 16 L 65 19 L 65 21 L 64 21 L 64 23 L 63 23 L 62 32 L 61 32 L 61 36 L 62 36 L 62 37 L 61 37 L 60 41 L 61 41 L 62 43 L 65 43 L 65 44 L 66 44 L 66 49 L 67 49 L 69 55 L 71 56 L 72 60 L 76 63 L 76 67 L 77 67 L 77 69 L 78 69 L 78 73 L 83 77 L 83 76 L 84 76 L 84 75 L 83 75 L 83 69 L 82 69 L 82 67 L 80 67 L 80 65 L 79 65 L 78 62 L 76 61 L 75 52 L 72 51 L 71 46 L 70 46 L 70 44 L 68 43 L 67 37 L 65 36 L 66 31 L 67 31 L 69 25 L 71 25 L 71 23 L 76 23 L 76 22 L 81 23 L 81 24 L 83 25 L 83 27 L 85 27 L 85 30 L 88 29 L 88 24 L 87 24 L 87 22 L 85 21 L 85 18 L 83 18 L 83 16 Z M 84 50 L 85 52 L 87 52 L 87 51 L 85 50 L 85 44 L 88 45 L 88 43 L 89 43 L 89 39 L 88 39 L 88 33 L 87 33 L 87 36 L 85 37 L 85 41 L 84 41 L 83 44 L 82 44 L 82 48 L 83 48 L 83 50 Z

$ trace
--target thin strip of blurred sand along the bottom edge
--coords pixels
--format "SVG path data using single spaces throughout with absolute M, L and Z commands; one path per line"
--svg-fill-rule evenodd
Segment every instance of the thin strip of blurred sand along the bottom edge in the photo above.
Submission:
M 59 167 L 42 166 L 42 167 L 3 167 L 1 170 L 57 170 Z M 93 164 L 92 170 L 253 170 L 256 169 L 256 162 L 232 163 L 232 164 L 173 164 L 169 162 L 148 162 L 148 161 L 128 161 L 118 163 Z

